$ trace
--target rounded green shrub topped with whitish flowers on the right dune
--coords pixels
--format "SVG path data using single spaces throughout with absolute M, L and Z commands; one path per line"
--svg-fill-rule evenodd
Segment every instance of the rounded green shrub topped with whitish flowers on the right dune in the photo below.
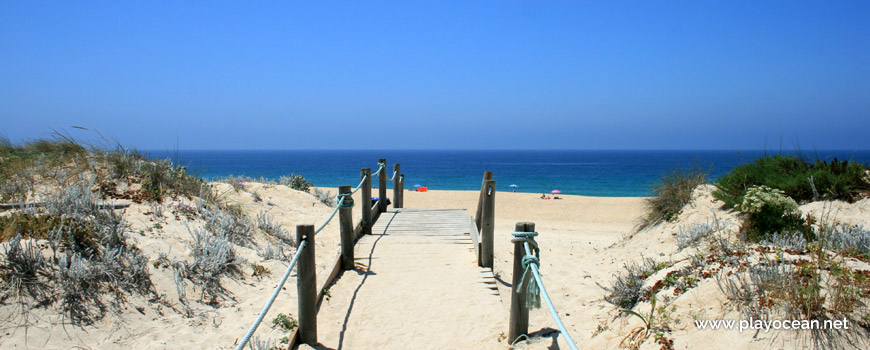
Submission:
M 747 214 L 743 232 L 751 241 L 760 241 L 774 233 L 801 232 L 804 238 L 814 238 L 812 227 L 801 216 L 797 202 L 782 190 L 767 186 L 752 186 L 743 195 L 743 202 L 734 209 Z

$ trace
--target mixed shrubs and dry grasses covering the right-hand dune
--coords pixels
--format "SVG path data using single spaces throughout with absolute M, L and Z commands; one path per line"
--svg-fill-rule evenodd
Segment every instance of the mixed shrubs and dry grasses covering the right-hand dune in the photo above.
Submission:
M 837 214 L 870 200 L 867 165 L 775 155 L 734 168 L 714 186 L 700 174 L 668 174 L 648 200 L 640 231 L 671 232 L 673 253 L 627 263 L 604 286 L 605 300 L 626 314 L 645 315 L 637 308 L 652 302 L 644 317 L 658 320 L 643 337 L 626 335 L 623 345 L 637 348 L 654 337 L 667 348 L 673 324 L 662 305 L 712 283 L 741 319 L 844 320 L 855 327 L 802 330 L 797 339 L 815 348 L 866 348 L 870 231 Z M 712 216 L 686 221 L 684 212 L 700 215 L 694 208 L 706 205 L 701 201 L 713 203 Z

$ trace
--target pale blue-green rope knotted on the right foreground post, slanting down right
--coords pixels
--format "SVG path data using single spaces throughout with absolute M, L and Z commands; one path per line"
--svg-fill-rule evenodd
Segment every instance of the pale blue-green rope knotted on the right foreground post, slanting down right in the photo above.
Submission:
M 516 293 L 526 294 L 525 307 L 527 310 L 529 308 L 540 308 L 541 297 L 543 296 L 543 300 L 550 309 L 550 314 L 553 316 L 553 320 L 556 321 L 559 330 L 565 335 L 565 340 L 568 342 L 568 346 L 573 350 L 577 350 L 577 344 L 574 343 L 574 339 L 571 338 L 571 334 L 568 333 L 568 329 L 565 327 L 565 324 L 562 323 L 562 318 L 559 317 L 556 307 L 553 306 L 553 300 L 550 299 L 550 294 L 547 293 L 547 288 L 544 287 L 544 282 L 541 279 L 541 272 L 538 270 L 541 251 L 538 249 L 538 242 L 535 241 L 535 236 L 537 236 L 538 233 L 514 231 L 512 235 L 514 238 L 511 239 L 511 242 L 522 243 L 526 252 L 522 258 L 522 265 L 524 268 L 523 276 L 520 279 L 521 282 L 519 285 L 516 286 Z M 514 257 L 514 259 L 516 259 L 516 257 Z M 529 278 L 529 272 L 531 272 L 534 283 L 532 283 L 532 279 Z M 519 337 L 517 337 L 517 339 L 519 339 Z M 513 341 L 516 342 L 517 339 L 514 339 Z

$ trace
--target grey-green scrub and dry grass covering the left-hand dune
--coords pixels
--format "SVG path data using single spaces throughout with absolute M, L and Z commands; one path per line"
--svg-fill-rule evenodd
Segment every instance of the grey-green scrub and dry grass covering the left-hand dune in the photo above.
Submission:
M 222 180 L 242 188 L 246 181 Z M 311 186 L 300 175 L 271 182 L 281 184 Z M 83 326 L 121 312 L 131 297 L 190 317 L 188 292 L 196 291 L 202 304 L 220 305 L 234 300 L 225 280 L 244 278 L 249 265 L 255 277 L 268 273 L 240 257 L 238 247 L 281 260 L 293 245 L 269 214 L 252 219 L 183 166 L 120 146 L 81 145 L 61 134 L 19 145 L 0 139 L 0 203 L 0 305 L 17 310 L 5 321 L 26 323 L 32 310 L 58 307 L 64 323 Z M 143 254 L 130 240 L 134 230 L 122 210 L 130 204 L 150 208 L 147 214 L 159 218 L 152 220 L 155 230 L 167 215 L 202 221 L 187 228 L 189 256 Z M 257 248 L 255 233 L 269 238 L 265 248 Z M 151 273 L 158 269 L 172 271 L 177 303 L 155 288 Z

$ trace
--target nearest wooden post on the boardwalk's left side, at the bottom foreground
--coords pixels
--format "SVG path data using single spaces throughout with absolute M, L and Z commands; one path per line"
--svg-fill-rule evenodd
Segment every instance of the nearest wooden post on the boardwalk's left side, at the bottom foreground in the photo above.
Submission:
M 296 225 L 296 242 L 305 247 L 296 262 L 296 295 L 299 310 L 299 339 L 317 345 L 317 273 L 314 262 L 314 225 Z

